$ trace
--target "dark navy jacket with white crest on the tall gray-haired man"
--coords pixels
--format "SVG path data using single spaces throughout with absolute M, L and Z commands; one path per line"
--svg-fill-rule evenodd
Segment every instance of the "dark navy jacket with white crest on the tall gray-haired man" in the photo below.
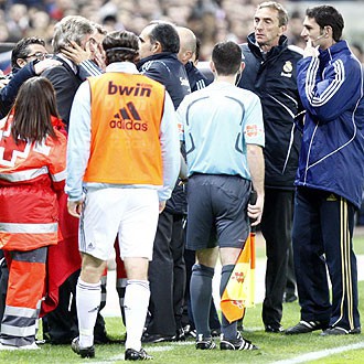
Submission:
M 254 33 L 248 35 L 248 43 L 240 46 L 245 69 L 238 86 L 257 94 L 263 106 L 265 185 L 293 190 L 301 143 L 301 133 L 295 127 L 293 118 L 302 109 L 296 73 L 302 52 L 296 46 L 288 46 L 285 35 L 265 57 L 255 44 Z

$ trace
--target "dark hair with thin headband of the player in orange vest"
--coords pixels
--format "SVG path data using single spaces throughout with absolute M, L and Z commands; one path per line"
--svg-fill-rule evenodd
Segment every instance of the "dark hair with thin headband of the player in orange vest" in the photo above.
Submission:
M 139 39 L 128 31 L 115 31 L 108 33 L 104 41 L 103 47 L 106 54 L 106 64 L 114 62 L 132 62 L 139 60 Z

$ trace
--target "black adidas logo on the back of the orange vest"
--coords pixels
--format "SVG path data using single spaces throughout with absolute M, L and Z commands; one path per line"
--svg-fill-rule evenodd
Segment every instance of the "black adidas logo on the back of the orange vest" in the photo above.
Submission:
M 114 115 L 114 119 L 109 122 L 109 126 L 113 129 L 148 130 L 148 124 L 141 122 L 141 117 L 132 103 L 128 103 L 126 107 L 120 108 L 119 111 Z

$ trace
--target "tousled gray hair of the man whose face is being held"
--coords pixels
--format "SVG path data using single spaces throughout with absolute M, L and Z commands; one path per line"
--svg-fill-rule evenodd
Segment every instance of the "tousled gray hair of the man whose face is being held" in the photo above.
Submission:
M 87 34 L 94 34 L 95 32 L 96 28 L 86 18 L 79 15 L 65 17 L 54 26 L 52 40 L 53 52 L 55 54 L 60 53 L 62 47 L 69 41 L 74 41 L 81 45 Z

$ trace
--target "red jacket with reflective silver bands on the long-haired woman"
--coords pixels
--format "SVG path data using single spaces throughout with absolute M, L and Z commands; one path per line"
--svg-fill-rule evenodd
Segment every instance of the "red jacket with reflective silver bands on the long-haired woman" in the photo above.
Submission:
M 55 130 L 30 143 L 11 136 L 12 115 L 0 126 L 0 248 L 32 250 L 57 244 L 56 192 L 65 181 L 66 138 Z

